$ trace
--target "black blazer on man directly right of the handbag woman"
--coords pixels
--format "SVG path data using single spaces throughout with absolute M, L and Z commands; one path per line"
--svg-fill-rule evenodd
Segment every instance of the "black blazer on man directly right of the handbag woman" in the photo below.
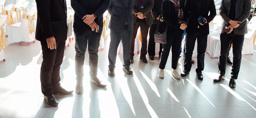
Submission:
M 185 3 L 185 14 L 188 16 L 187 33 L 195 33 L 198 31 L 199 26 L 200 34 L 209 34 L 209 22 L 216 16 L 216 8 L 214 0 L 202 0 L 200 9 L 197 7 L 198 0 L 187 0 Z M 209 14 L 210 11 L 210 15 Z M 207 23 L 201 26 L 197 19 L 199 16 L 206 18 Z

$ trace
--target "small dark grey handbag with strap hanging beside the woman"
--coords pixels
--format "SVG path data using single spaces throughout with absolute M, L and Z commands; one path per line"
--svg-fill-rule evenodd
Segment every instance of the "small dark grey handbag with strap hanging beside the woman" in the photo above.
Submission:
M 161 18 L 161 17 L 162 17 L 162 6 L 161 6 L 161 12 L 160 12 L 160 17 L 159 17 L 159 18 Z M 167 28 L 168 28 L 168 25 L 166 24 L 166 28 L 165 28 L 165 30 L 164 30 L 163 33 L 160 33 L 160 32 L 158 31 L 159 25 L 160 25 L 160 20 L 158 21 L 158 26 L 157 26 L 157 29 L 156 29 L 156 32 L 155 32 L 155 35 L 154 35 L 154 37 L 155 37 L 155 42 L 156 42 L 156 43 L 161 43 L 161 44 L 166 44 L 166 37 L 167 37 Z

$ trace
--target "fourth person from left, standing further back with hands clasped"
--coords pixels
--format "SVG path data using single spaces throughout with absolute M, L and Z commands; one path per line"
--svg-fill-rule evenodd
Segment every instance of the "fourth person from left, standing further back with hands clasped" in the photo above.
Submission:
M 134 56 L 134 41 L 137 35 L 138 28 L 141 30 L 141 50 L 140 60 L 147 63 L 147 37 L 149 27 L 153 24 L 153 16 L 151 9 L 154 7 L 154 0 L 136 0 L 133 7 L 133 30 L 130 44 L 130 63 L 133 63 Z

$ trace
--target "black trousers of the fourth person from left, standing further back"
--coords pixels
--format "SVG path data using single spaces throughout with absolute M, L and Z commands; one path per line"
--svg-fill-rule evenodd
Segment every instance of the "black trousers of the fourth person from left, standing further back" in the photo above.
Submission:
M 147 25 L 145 19 L 137 19 L 137 21 L 133 24 L 132 38 L 131 38 L 131 44 L 130 44 L 130 59 L 133 59 L 133 56 L 134 56 L 134 41 L 135 41 L 139 27 L 141 31 L 140 58 L 146 58 L 146 55 L 147 55 L 147 45 L 148 45 L 147 37 L 149 32 L 149 25 Z

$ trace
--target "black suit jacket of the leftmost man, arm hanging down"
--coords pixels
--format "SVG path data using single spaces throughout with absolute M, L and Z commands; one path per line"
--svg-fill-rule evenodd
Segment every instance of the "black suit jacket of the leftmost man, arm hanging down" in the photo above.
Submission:
M 46 42 L 46 38 L 54 36 L 56 42 L 66 40 L 66 2 L 61 0 L 35 0 L 37 22 L 35 39 Z

